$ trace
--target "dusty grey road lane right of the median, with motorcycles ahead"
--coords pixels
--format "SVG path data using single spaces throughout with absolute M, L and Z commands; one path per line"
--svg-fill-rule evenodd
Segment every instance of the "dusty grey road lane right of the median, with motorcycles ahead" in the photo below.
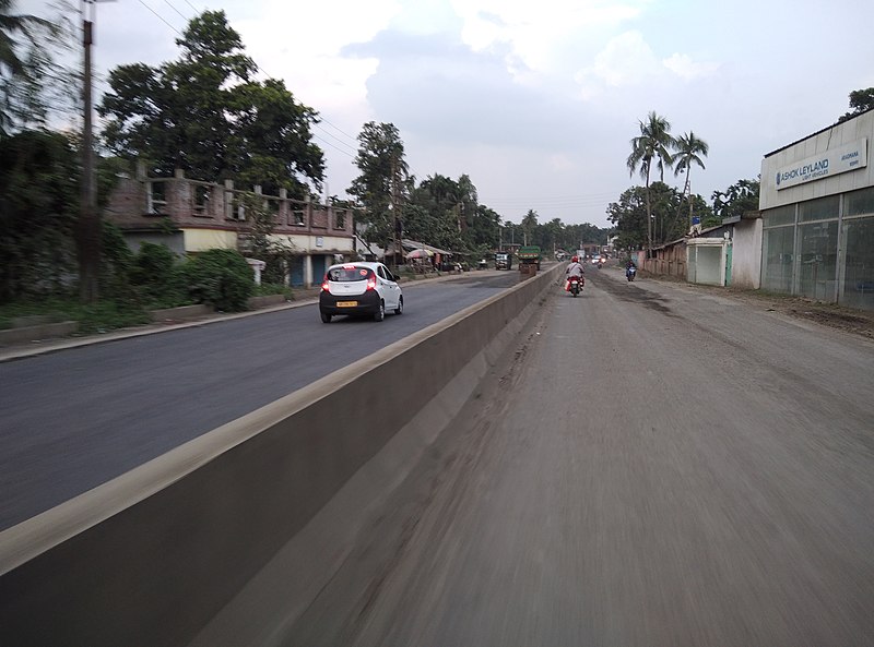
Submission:
M 285 645 L 874 645 L 874 346 L 589 274 Z

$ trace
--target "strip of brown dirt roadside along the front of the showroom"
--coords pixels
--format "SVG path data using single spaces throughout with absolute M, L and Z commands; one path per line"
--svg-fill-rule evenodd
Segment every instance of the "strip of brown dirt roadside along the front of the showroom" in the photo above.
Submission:
M 651 278 L 658 279 L 658 277 Z M 824 326 L 874 339 L 874 311 L 853 310 L 835 303 L 825 303 L 804 297 L 792 297 L 763 290 L 686 285 L 690 289 L 744 301 L 769 312 L 779 312 L 788 316 L 813 321 Z

